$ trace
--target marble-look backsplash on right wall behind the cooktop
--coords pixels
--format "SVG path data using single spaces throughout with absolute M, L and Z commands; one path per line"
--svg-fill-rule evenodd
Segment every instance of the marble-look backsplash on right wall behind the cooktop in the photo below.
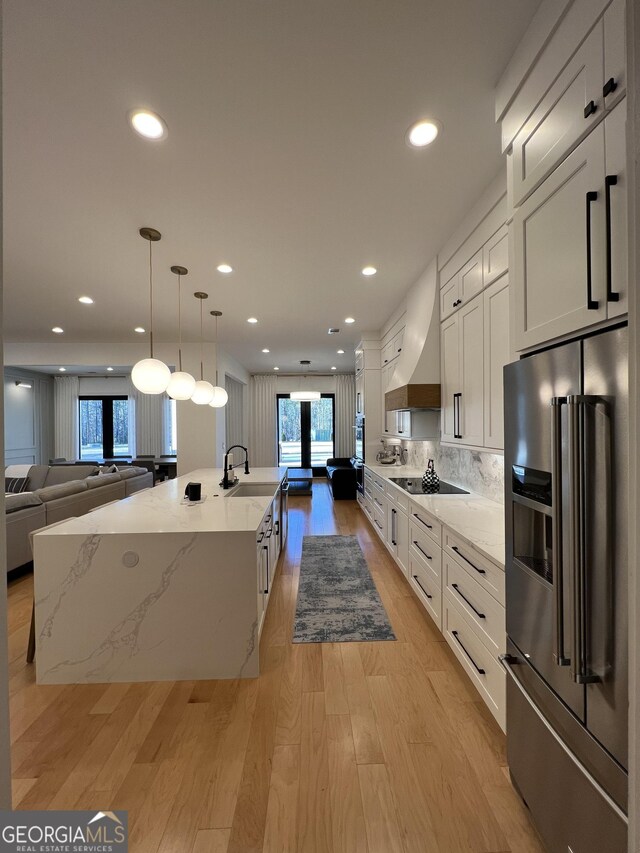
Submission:
M 426 469 L 433 459 L 441 480 L 504 503 L 504 457 L 498 453 L 443 447 L 439 441 L 405 441 L 407 465 Z

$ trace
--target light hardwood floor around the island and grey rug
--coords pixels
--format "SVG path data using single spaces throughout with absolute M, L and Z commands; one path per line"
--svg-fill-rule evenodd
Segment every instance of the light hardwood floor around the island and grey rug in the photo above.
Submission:
M 302 537 L 356 534 L 397 642 L 293 645 Z M 9 586 L 14 808 L 128 809 L 135 853 L 543 853 L 505 739 L 355 502 L 290 501 L 260 678 L 37 686 Z

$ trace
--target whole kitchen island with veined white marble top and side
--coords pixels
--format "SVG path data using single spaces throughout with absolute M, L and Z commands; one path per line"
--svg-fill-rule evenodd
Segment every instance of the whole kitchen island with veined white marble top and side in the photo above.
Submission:
M 36 534 L 37 682 L 257 676 L 286 475 L 193 471 Z

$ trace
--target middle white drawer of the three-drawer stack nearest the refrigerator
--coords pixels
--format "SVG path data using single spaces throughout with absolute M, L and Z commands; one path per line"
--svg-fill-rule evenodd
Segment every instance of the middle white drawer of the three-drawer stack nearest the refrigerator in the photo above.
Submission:
M 476 633 L 494 657 L 506 648 L 504 607 L 446 552 L 443 588 L 476 626 Z

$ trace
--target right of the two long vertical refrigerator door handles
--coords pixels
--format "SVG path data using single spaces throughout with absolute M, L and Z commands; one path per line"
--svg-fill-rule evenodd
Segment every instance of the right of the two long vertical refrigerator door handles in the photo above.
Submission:
M 588 603 L 587 603 L 587 488 L 585 439 L 586 407 L 601 403 L 599 397 L 574 394 L 567 398 L 569 431 L 569 482 L 571 586 L 573 592 L 573 651 L 571 675 L 576 684 L 600 681 L 588 665 Z

